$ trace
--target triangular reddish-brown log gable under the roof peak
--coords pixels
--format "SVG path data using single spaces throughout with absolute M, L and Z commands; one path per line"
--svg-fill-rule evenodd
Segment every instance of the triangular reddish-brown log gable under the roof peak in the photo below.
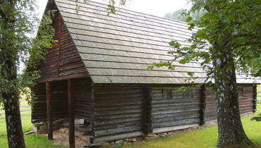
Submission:
M 56 11 L 52 26 L 55 29 L 54 39 L 57 42 L 48 49 L 45 60 L 39 66 L 38 69 L 42 73 L 37 82 L 87 76 L 85 65 L 59 11 Z

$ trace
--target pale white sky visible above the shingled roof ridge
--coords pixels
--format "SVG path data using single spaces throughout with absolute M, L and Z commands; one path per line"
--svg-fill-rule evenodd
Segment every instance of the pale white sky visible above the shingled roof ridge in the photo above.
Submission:
M 79 0 L 83 1 L 83 0 Z M 109 0 L 92 0 L 99 3 L 108 4 Z M 119 0 L 116 0 L 119 1 Z M 40 0 L 40 16 L 44 12 L 47 0 Z M 119 6 L 119 3 L 116 4 Z M 153 16 L 163 17 L 166 13 L 173 13 L 176 9 L 185 8 L 189 9 L 191 4 L 188 4 L 186 0 L 127 0 L 126 6 L 121 6 L 121 8 L 126 8 L 131 11 L 137 11 L 140 13 L 146 13 Z

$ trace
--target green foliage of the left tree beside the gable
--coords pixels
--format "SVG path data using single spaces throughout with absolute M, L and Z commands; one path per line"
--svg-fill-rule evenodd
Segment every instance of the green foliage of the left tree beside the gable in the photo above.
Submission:
M 14 4 L 11 4 L 14 3 Z M 14 6 L 14 8 L 11 8 Z M 54 28 L 51 25 L 51 17 L 54 12 L 49 11 L 46 16 L 37 18 L 35 11 L 36 1 L 4 1 L 0 4 L 0 105 L 6 101 L 2 94 L 12 92 L 23 92 L 30 101 L 30 92 L 27 88 L 35 84 L 39 78 L 40 71 L 37 66 L 44 58 L 47 48 L 54 42 Z M 15 11 L 10 11 L 15 10 Z M 13 21 L 6 21 L 13 20 Z M 8 23 L 6 23 L 8 22 Z M 40 27 L 39 27 L 40 24 Z M 39 30 L 37 31 L 37 29 Z M 35 32 L 38 32 L 35 37 Z M 10 59 L 6 59 L 9 57 Z M 23 73 L 10 80 L 10 75 L 6 68 L 6 62 L 11 60 L 19 67 L 21 63 L 31 71 L 23 70 Z M 19 69 L 19 68 L 18 68 Z M 17 75 L 17 70 L 14 75 Z

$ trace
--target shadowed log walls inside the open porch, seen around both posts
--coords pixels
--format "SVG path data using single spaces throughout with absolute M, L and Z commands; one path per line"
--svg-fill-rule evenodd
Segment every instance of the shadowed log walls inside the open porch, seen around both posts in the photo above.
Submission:
M 75 101 L 75 118 L 85 118 L 90 122 L 91 117 L 91 100 L 90 100 L 90 78 L 73 79 L 73 99 Z M 51 106 L 53 106 L 52 118 L 67 118 L 67 81 L 51 82 Z M 45 83 L 37 83 L 32 88 L 35 92 L 37 101 L 32 108 L 32 123 L 47 121 L 47 95 Z

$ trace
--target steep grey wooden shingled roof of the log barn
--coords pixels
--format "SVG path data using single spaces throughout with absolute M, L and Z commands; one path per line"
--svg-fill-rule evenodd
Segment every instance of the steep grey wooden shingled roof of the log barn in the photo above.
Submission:
M 107 15 L 107 5 L 97 2 L 56 0 L 56 6 L 68 27 L 78 53 L 95 83 L 182 84 L 195 72 L 197 82 L 206 73 L 200 61 L 183 65 L 175 62 L 176 70 L 154 68 L 150 63 L 172 60 L 169 42 L 177 40 L 183 46 L 191 36 L 186 23 L 116 8 Z M 238 83 L 252 83 L 238 76 Z

